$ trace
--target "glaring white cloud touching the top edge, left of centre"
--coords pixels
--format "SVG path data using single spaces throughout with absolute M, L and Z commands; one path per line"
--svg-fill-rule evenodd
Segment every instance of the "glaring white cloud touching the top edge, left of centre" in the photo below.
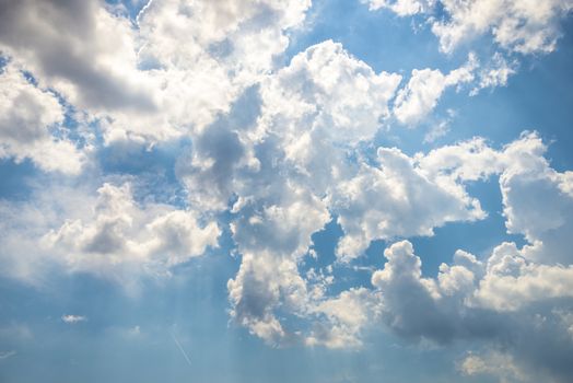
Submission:
M 274 70 L 307 0 L 153 1 L 138 16 L 137 66 L 156 112 L 113 114 L 108 141 L 201 135 Z M 186 44 L 182 44 L 185 36 Z

